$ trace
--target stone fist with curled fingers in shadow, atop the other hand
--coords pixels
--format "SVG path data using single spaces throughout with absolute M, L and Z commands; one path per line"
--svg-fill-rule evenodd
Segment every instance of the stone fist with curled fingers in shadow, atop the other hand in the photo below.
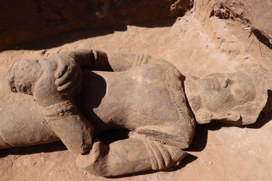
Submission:
M 78 63 L 68 56 L 55 55 L 53 59 L 58 64 L 55 73 L 57 90 L 61 93 L 76 90 L 82 79 L 82 71 Z

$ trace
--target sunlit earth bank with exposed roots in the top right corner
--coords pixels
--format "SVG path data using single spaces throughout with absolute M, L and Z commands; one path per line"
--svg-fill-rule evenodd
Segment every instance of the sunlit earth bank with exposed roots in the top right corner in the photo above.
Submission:
M 246 30 L 272 49 L 271 0 L 194 0 L 194 8 L 203 25 L 209 24 L 212 16 L 239 20 Z

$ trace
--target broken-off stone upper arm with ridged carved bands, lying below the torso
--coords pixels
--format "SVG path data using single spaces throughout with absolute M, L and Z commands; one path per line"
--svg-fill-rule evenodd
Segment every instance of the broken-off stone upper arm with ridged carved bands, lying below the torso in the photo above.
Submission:
M 148 138 L 128 138 L 103 144 L 97 141 L 87 155 L 79 155 L 79 168 L 96 176 L 118 176 L 145 170 L 163 170 L 179 162 L 186 152 Z

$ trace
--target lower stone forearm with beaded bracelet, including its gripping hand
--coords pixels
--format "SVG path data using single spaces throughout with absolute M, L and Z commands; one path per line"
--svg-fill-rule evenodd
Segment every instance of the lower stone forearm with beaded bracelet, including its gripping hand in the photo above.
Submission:
M 61 92 L 60 87 L 54 84 L 56 78 L 53 73 L 56 72 L 57 62 L 41 59 L 39 64 L 44 71 L 34 86 L 34 99 L 66 147 L 73 153 L 86 153 L 92 147 L 94 127 L 79 113 L 73 99 L 81 84 L 81 70 L 78 69 L 77 79 L 69 88 Z

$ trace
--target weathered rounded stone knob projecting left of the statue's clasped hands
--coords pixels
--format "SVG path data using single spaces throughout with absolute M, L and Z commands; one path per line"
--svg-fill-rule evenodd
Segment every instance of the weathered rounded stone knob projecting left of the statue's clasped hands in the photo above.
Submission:
M 42 73 L 38 60 L 24 59 L 13 62 L 7 71 L 11 91 L 33 95 L 34 85 Z

